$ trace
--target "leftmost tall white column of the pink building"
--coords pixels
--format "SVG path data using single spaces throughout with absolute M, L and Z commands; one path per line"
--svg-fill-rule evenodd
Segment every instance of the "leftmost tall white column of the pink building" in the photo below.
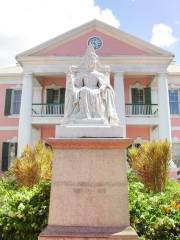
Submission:
M 31 116 L 32 116 L 32 74 L 25 73 L 23 77 L 21 109 L 18 131 L 18 156 L 26 145 L 31 144 Z

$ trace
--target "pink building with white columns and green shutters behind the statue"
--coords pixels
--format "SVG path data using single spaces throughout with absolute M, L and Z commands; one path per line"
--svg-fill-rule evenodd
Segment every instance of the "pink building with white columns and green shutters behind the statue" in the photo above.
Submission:
M 93 20 L 17 55 L 17 66 L 0 69 L 2 170 L 26 144 L 54 137 L 64 114 L 69 66 L 81 62 L 89 41 L 110 65 L 125 136 L 135 144 L 168 139 L 180 162 L 180 66 L 171 64 L 174 56 Z

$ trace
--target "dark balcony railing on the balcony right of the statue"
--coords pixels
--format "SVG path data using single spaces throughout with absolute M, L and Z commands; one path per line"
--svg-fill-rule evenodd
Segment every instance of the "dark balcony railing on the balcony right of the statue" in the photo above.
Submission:
M 126 104 L 126 116 L 157 116 L 158 104 Z

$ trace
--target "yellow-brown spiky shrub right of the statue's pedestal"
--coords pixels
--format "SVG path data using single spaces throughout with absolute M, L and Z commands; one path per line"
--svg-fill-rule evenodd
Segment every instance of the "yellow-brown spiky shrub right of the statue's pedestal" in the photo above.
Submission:
M 165 189 L 171 159 L 170 143 L 153 141 L 129 149 L 130 165 L 146 188 L 154 192 Z

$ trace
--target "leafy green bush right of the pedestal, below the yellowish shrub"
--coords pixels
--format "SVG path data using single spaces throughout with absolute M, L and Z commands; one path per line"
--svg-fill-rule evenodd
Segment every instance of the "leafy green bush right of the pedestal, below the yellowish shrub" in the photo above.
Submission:
M 178 240 L 180 234 L 180 186 L 170 181 L 164 192 L 147 192 L 131 173 L 129 211 L 132 227 L 141 240 Z

